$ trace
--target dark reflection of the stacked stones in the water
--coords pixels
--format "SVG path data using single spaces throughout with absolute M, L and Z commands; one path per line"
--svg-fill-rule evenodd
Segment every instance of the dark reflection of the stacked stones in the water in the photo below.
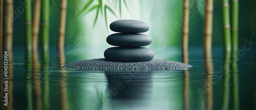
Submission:
M 145 109 L 150 102 L 152 74 L 151 73 L 114 73 L 105 72 L 108 79 L 108 91 L 110 108 Z

